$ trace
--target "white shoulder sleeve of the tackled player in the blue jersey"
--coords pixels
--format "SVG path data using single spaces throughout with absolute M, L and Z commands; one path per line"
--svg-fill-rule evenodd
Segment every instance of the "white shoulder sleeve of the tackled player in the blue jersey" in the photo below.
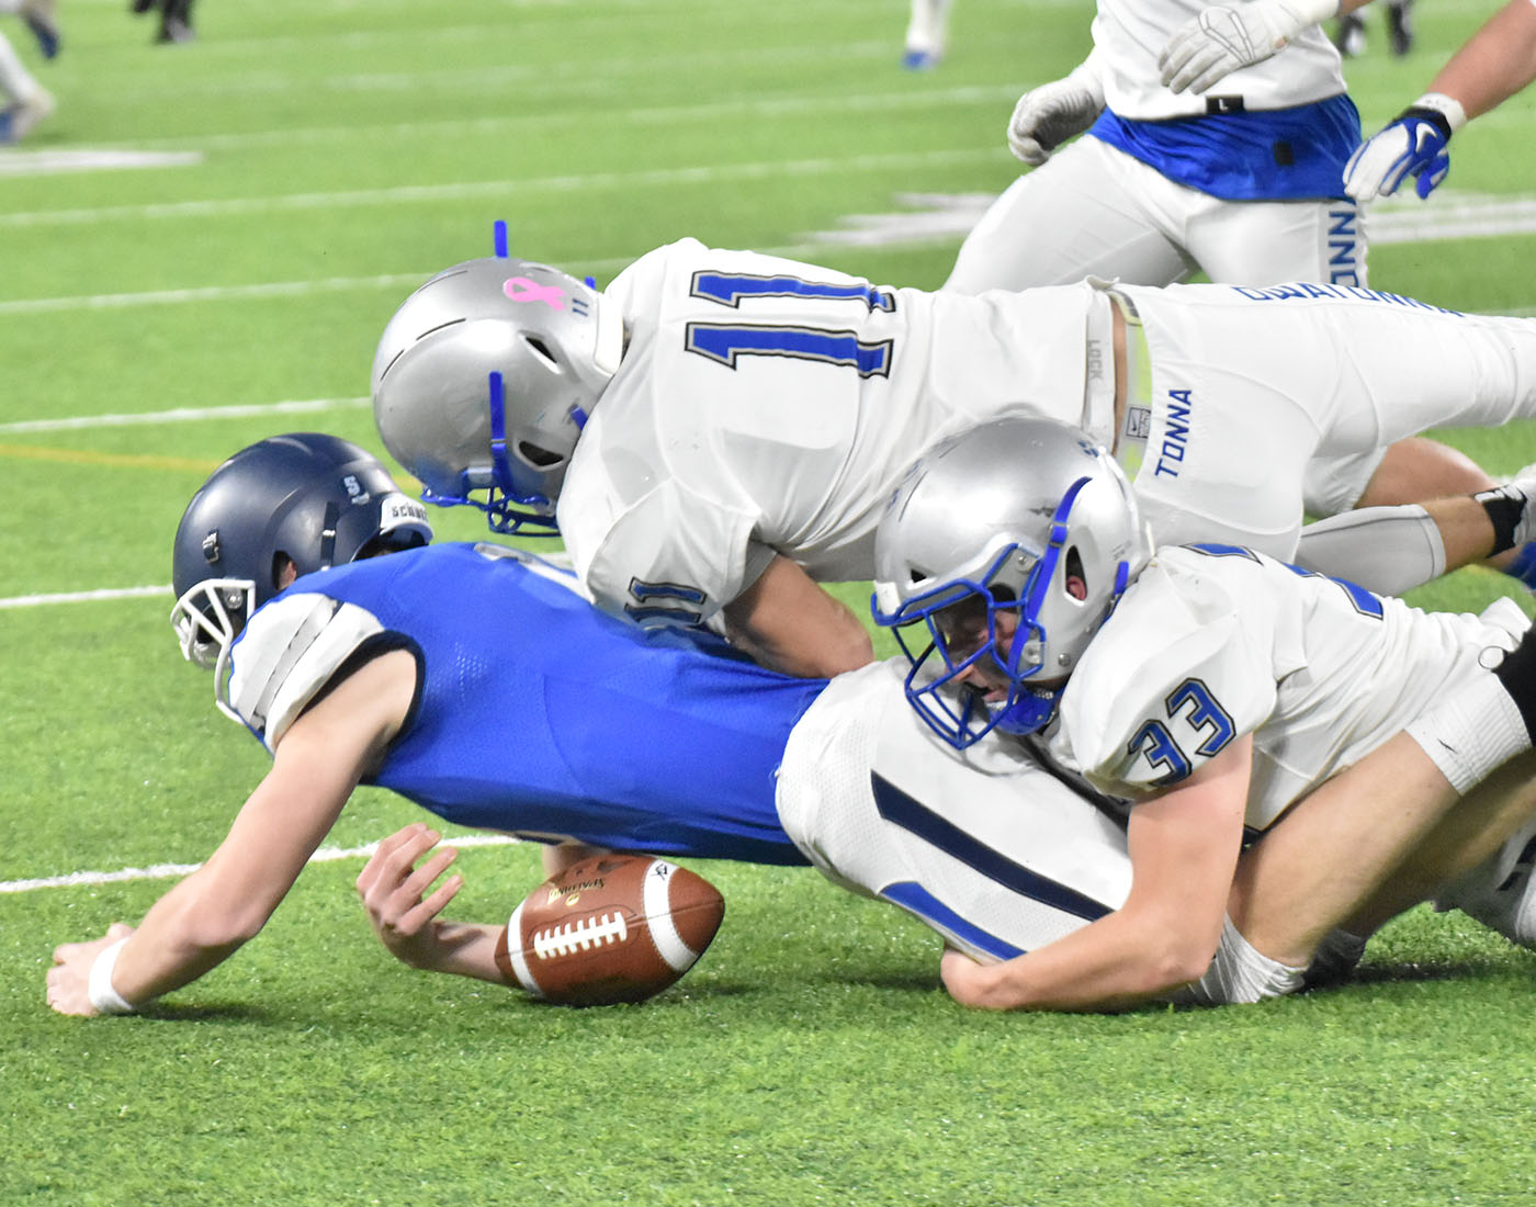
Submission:
M 235 643 L 229 706 L 272 749 L 358 646 L 382 631 L 356 604 L 313 591 L 278 596 Z

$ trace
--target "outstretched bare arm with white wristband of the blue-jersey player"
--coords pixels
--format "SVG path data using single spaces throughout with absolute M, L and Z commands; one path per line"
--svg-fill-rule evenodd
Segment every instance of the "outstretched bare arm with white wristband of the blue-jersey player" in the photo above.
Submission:
M 415 683 L 415 659 L 392 651 L 293 723 L 224 842 L 151 906 L 117 951 L 106 977 L 114 1009 L 141 1006 L 197 980 L 261 931 L 398 731 Z M 48 974 L 49 1006 L 60 1014 L 101 1014 L 103 986 L 92 1001 L 92 966 L 124 934 L 114 929 L 94 943 L 60 946 Z

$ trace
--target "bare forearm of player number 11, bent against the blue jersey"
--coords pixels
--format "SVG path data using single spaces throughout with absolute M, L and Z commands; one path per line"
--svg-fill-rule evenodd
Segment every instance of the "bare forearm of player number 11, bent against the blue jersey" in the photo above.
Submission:
M 760 665 L 802 679 L 831 679 L 874 662 L 859 617 L 783 554 L 725 605 L 725 627 L 731 643 Z

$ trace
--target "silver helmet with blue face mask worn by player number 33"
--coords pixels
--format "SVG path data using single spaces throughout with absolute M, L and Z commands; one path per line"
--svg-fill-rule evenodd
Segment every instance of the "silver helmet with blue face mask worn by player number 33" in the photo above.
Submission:
M 994 726 L 1026 734 L 1051 720 L 1150 556 L 1109 453 L 1075 427 L 1011 415 L 934 445 L 908 471 L 876 533 L 871 607 L 912 663 L 912 706 L 963 749 Z M 929 639 L 920 651 L 903 634 L 917 622 Z M 1006 696 L 986 700 L 974 677 Z

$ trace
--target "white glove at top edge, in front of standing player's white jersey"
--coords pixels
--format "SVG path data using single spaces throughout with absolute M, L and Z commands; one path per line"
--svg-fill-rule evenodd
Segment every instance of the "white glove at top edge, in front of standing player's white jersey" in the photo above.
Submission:
M 1204 92 L 1240 68 L 1286 49 L 1296 34 L 1338 12 L 1338 0 L 1247 0 L 1212 5 L 1184 23 L 1157 63 L 1174 92 Z

